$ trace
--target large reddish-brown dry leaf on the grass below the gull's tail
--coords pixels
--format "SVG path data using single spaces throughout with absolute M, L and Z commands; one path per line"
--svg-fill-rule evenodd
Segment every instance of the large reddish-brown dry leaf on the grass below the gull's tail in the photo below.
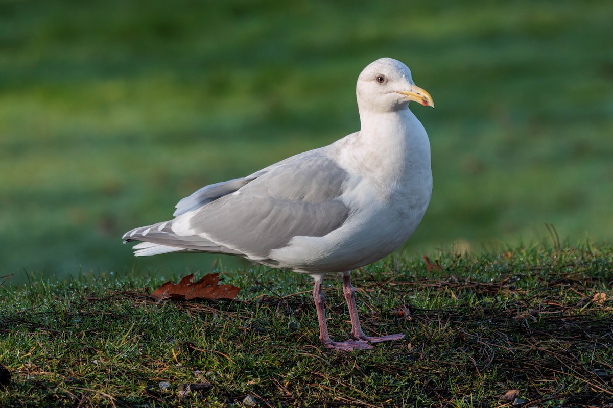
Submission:
M 177 284 L 167 281 L 149 296 L 155 300 L 168 297 L 175 300 L 232 300 L 238 294 L 240 288 L 230 284 L 220 285 L 218 283 L 219 273 L 209 273 L 197 282 L 194 282 L 194 274 L 192 273 L 185 276 Z

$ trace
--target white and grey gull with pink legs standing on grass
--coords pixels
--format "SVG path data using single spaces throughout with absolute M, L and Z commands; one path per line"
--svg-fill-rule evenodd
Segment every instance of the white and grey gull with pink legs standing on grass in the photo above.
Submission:
M 360 130 L 326 147 L 281 160 L 250 176 L 207 185 L 178 202 L 172 220 L 132 229 L 135 256 L 170 252 L 231 254 L 314 280 L 319 339 L 330 349 L 369 349 L 402 333 L 367 336 L 351 270 L 392 253 L 424 217 L 432 193 L 430 142 L 408 109 L 434 107 L 400 61 L 381 58 L 357 78 Z M 327 273 L 343 276 L 352 339 L 332 341 Z

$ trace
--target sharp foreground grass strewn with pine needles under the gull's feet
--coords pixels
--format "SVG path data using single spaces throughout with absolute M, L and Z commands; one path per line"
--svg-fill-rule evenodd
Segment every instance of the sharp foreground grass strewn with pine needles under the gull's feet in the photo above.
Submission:
M 613 250 L 556 248 L 357 272 L 365 330 L 406 338 L 351 353 L 319 344 L 311 283 L 294 273 L 228 273 L 239 299 L 204 303 L 149 300 L 171 276 L 31 276 L 0 287 L 0 364 L 13 376 L 0 406 L 229 407 L 252 396 L 261 407 L 494 407 L 512 406 L 500 400 L 509 390 L 526 406 L 606 406 Z M 326 282 L 332 336 L 345 338 L 340 284 Z M 180 384 L 199 382 L 213 388 L 179 398 Z

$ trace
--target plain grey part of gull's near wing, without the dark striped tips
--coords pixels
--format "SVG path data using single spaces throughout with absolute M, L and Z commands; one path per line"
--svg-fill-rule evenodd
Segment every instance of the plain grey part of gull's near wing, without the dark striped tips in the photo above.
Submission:
M 347 172 L 316 150 L 281 163 L 234 193 L 183 213 L 172 221 L 172 231 L 265 259 L 292 237 L 321 237 L 339 228 L 349 216 L 339 199 Z

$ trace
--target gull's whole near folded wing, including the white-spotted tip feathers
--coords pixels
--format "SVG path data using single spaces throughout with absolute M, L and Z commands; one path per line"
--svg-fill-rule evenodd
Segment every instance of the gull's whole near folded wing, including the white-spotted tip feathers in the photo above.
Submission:
M 349 209 L 340 196 L 347 177 L 313 150 L 204 187 L 179 202 L 174 220 L 134 229 L 124 239 L 148 242 L 134 247 L 142 255 L 199 251 L 267 259 L 292 237 L 325 236 L 345 223 Z

